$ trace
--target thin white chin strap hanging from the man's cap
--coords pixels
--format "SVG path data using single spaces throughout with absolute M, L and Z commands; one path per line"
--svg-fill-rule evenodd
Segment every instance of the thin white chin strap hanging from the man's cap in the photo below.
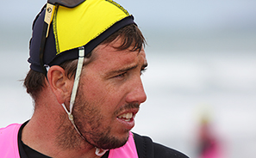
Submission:
M 84 46 L 79 47 L 78 66 L 77 66 L 76 76 L 75 76 L 75 80 L 74 80 L 74 84 L 73 84 L 73 88 L 72 88 L 72 95 L 71 95 L 70 106 L 69 106 L 70 112 L 68 112 L 64 103 L 61 104 L 63 106 L 63 108 L 65 109 L 66 113 L 68 114 L 68 118 L 72 122 L 72 125 L 74 126 L 76 131 L 78 131 L 78 128 L 74 122 L 74 117 L 72 115 L 72 109 L 73 109 L 76 95 L 78 92 L 78 83 L 79 83 L 81 72 L 83 69 L 83 64 L 84 64 Z M 81 134 L 80 131 L 78 131 L 78 134 L 85 140 L 84 136 Z M 97 147 L 95 147 L 95 148 L 96 148 L 95 154 L 97 156 L 102 156 L 108 151 L 108 149 L 98 149 Z

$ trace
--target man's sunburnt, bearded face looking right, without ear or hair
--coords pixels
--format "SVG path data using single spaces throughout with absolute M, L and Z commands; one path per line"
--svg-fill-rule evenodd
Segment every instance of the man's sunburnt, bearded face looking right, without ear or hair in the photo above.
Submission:
M 134 127 L 140 103 L 147 99 L 140 75 L 147 67 L 144 49 L 117 51 L 121 40 L 97 46 L 96 59 L 83 69 L 75 123 L 88 143 L 101 149 L 121 147 Z

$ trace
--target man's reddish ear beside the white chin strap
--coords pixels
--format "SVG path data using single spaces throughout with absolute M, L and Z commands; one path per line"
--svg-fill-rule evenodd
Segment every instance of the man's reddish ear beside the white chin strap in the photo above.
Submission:
M 65 70 L 54 65 L 48 70 L 47 78 L 59 104 L 69 101 L 73 82 L 66 76 Z

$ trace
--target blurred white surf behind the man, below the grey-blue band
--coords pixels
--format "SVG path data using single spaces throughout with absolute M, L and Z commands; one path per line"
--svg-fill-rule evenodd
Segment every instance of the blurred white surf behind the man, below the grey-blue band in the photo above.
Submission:
M 28 52 L 1 52 L 0 126 L 22 123 L 33 102 L 22 88 Z M 197 157 L 200 118 L 210 128 L 225 158 L 256 154 L 255 53 L 147 52 L 141 76 L 147 101 L 140 106 L 135 132 Z

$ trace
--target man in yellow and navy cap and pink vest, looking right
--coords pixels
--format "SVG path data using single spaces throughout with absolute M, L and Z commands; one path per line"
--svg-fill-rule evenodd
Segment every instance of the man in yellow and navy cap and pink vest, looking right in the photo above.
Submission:
M 144 44 L 117 3 L 49 0 L 34 20 L 24 81 L 34 114 L 0 130 L 0 157 L 187 157 L 130 132 L 147 99 Z

